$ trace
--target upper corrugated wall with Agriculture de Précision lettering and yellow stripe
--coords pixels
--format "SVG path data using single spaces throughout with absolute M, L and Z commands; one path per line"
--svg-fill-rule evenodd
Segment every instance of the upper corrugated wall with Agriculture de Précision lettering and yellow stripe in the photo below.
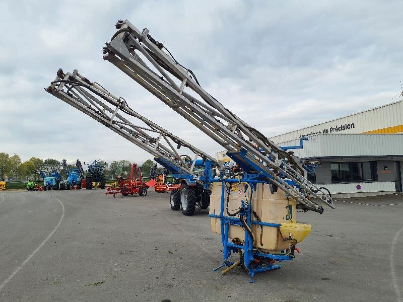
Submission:
M 353 127 L 354 124 L 354 127 Z M 347 127 L 346 127 L 347 126 Z M 340 127 L 340 128 L 339 128 Z M 349 129 L 343 129 L 343 127 Z M 338 128 L 336 131 L 335 128 Z M 311 127 L 271 137 L 275 143 L 297 139 L 300 136 L 323 133 L 399 133 L 403 132 L 403 101 L 394 102 Z

